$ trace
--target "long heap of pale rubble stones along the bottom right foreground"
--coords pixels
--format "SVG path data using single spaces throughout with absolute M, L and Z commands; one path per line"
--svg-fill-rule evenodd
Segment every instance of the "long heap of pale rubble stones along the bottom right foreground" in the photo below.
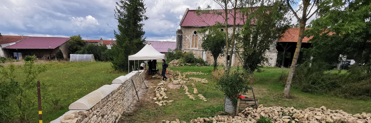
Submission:
M 343 110 L 330 110 L 325 106 L 318 108 L 308 107 L 305 110 L 296 110 L 294 107 L 263 107 L 257 109 L 247 107 L 238 116 L 215 116 L 191 120 L 190 123 L 257 123 L 260 117 L 269 117 L 273 123 L 371 123 L 371 113 L 348 114 Z M 165 123 L 165 122 L 163 122 Z M 173 122 L 177 123 L 177 122 Z

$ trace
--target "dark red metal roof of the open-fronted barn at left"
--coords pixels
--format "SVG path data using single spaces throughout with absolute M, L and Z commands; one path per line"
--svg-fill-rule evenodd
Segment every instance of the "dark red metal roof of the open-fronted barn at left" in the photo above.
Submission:
M 54 49 L 70 40 L 58 37 L 28 37 L 16 44 L 4 47 L 7 49 Z

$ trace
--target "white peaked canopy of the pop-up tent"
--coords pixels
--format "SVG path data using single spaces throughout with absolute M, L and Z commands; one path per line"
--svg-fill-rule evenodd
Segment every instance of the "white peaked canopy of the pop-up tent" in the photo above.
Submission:
M 130 68 L 130 65 L 129 65 L 130 60 L 138 60 L 138 66 L 139 66 L 139 60 L 154 60 L 154 59 L 165 59 L 165 54 L 158 52 L 151 45 L 146 44 L 139 52 L 137 52 L 134 55 L 129 56 L 128 72 Z M 134 68 L 135 68 L 135 61 L 134 61 Z

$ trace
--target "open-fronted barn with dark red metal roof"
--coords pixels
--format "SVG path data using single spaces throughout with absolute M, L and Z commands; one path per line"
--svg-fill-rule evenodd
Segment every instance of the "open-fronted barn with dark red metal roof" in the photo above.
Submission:
M 68 58 L 67 41 L 70 38 L 59 37 L 28 37 L 16 44 L 3 48 L 6 57 L 24 58 L 27 55 L 35 55 L 38 59 L 54 59 L 59 49 L 63 52 L 63 57 Z

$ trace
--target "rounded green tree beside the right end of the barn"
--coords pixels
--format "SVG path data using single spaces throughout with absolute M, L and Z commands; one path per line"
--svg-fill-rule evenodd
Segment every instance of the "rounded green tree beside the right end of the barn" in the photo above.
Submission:
M 84 47 L 85 41 L 82 40 L 82 37 L 79 35 L 73 35 L 71 39 L 67 42 L 68 47 L 68 57 L 69 54 L 75 54 L 76 51 L 79 51 Z

